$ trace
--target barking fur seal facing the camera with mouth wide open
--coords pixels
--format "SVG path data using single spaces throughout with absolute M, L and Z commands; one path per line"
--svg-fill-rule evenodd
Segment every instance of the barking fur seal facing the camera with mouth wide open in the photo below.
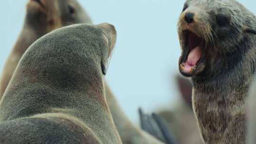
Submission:
M 256 17 L 236 0 L 187 0 L 178 22 L 180 72 L 192 77 L 205 144 L 245 144 L 256 70 Z

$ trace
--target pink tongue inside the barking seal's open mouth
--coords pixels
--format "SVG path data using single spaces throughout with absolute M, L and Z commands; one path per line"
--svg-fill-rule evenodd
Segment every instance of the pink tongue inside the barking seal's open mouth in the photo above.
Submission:
M 189 65 L 196 65 L 202 56 L 201 47 L 197 46 L 189 53 L 187 63 Z

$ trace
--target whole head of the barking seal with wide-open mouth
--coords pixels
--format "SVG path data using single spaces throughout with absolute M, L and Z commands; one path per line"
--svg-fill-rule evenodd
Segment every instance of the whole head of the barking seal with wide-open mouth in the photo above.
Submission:
M 254 15 L 235 0 L 187 0 L 178 22 L 180 72 L 190 77 L 219 71 L 219 63 L 241 52 L 254 22 Z

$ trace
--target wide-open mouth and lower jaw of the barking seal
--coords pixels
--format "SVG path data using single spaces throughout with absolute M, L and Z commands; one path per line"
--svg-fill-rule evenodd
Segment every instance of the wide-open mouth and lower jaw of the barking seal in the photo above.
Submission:
M 179 70 L 186 77 L 195 76 L 205 68 L 205 40 L 189 30 L 183 31 L 183 39 Z

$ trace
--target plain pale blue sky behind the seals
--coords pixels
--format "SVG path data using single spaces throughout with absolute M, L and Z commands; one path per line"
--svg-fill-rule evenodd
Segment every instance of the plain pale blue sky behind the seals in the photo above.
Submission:
M 0 68 L 21 30 L 28 0 L 2 0 Z M 239 0 L 256 13 L 255 0 Z M 184 0 L 80 0 L 95 24 L 108 22 L 118 32 L 107 80 L 130 119 L 172 108 L 179 93 L 174 83 L 180 46 L 177 19 Z

